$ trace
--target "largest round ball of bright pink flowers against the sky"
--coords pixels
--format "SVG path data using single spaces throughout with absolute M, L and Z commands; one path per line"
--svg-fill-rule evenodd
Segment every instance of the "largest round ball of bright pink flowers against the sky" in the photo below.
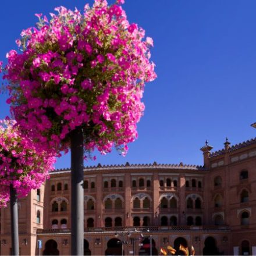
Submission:
M 81 126 L 86 152 L 127 151 L 137 138 L 145 82 L 156 78 L 152 38 L 129 24 L 123 0 L 88 4 L 84 12 L 55 8 L 22 31 L 23 48 L 7 55 L 8 104 L 17 123 L 42 150 L 67 151 Z

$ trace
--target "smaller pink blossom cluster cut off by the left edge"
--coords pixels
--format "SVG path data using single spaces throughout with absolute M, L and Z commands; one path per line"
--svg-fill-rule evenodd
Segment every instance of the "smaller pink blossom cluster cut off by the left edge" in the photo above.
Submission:
M 18 197 L 24 197 L 38 189 L 54 169 L 55 158 L 38 152 L 15 123 L 0 120 L 0 208 L 10 200 L 10 184 Z

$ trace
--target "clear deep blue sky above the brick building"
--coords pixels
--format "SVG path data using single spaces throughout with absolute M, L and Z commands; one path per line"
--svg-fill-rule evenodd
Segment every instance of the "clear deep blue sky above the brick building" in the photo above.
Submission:
M 56 6 L 83 9 L 93 1 L 1 1 L 0 59 L 16 48 L 20 31 L 37 22 L 34 13 Z M 115 150 L 85 165 L 117 163 L 202 164 L 208 139 L 214 150 L 256 137 L 256 1 L 126 0 L 130 22 L 154 39 L 158 79 L 147 84 L 138 140 L 125 158 Z M 0 118 L 9 113 L 0 95 Z M 97 154 L 98 155 L 98 154 Z M 56 168 L 70 166 L 70 157 Z

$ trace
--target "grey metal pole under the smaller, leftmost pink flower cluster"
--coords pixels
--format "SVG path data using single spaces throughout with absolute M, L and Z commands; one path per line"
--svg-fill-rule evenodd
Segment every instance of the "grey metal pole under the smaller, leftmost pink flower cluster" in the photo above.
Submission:
M 18 204 L 17 193 L 10 184 L 10 226 L 12 230 L 12 255 L 19 255 L 19 225 L 18 225 Z

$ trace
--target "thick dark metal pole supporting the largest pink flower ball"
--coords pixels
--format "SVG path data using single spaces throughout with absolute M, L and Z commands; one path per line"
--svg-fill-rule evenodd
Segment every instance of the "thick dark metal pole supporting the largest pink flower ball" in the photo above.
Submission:
M 71 148 L 71 254 L 84 255 L 84 148 L 81 126 L 70 133 Z

